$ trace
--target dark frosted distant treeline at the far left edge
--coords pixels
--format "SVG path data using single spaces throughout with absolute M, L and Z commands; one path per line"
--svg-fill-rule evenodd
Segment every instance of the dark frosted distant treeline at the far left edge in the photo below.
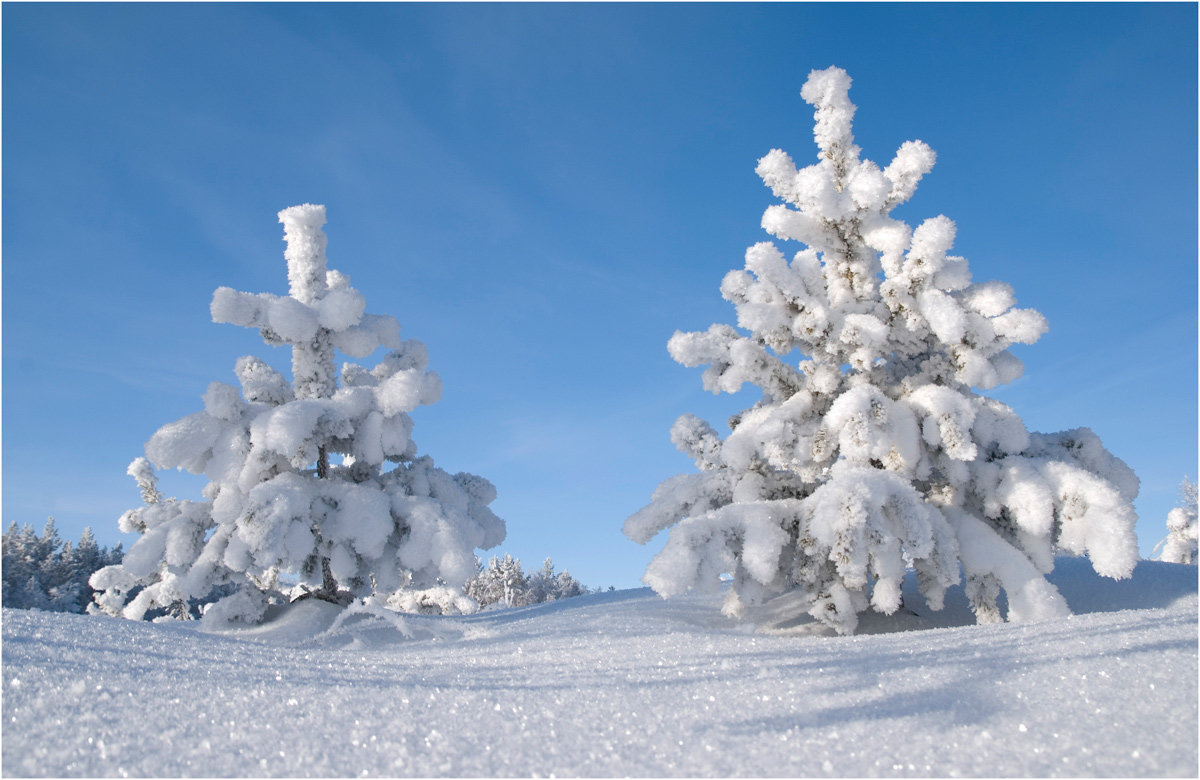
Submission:
M 18 528 L 13 521 L 4 533 L 4 606 L 20 610 L 83 612 L 91 602 L 88 578 L 104 566 L 121 560 L 121 545 L 101 547 L 91 528 L 84 528 L 79 544 L 64 541 L 46 521 L 42 535 L 31 524 Z

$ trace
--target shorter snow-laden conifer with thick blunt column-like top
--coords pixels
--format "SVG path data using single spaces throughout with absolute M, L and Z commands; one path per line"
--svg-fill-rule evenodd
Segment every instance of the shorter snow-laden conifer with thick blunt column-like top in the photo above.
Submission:
M 140 619 L 208 605 L 256 620 L 282 574 L 324 599 L 466 582 L 474 550 L 504 539 L 496 488 L 416 456 L 408 413 L 442 392 L 425 346 L 401 341 L 392 317 L 365 313 L 347 276 L 326 269 L 325 208 L 280 212 L 289 294 L 212 295 L 212 319 L 257 328 L 292 348 L 293 382 L 257 358 L 236 361 L 240 388 L 215 382 L 204 409 L 158 430 L 130 466 L 143 506 L 120 520 L 142 538 L 98 571 L 100 611 Z M 390 352 L 373 368 L 344 364 Z M 203 500 L 164 498 L 157 468 L 209 479 Z M 132 596 L 132 600 L 128 600 Z

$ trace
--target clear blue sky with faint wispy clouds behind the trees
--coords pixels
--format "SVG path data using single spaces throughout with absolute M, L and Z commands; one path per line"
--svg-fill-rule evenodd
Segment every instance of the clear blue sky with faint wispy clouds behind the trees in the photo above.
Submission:
M 287 367 L 208 307 L 286 292 L 275 215 L 312 202 L 428 346 L 414 438 L 497 485 L 502 550 L 636 586 L 662 538 L 620 524 L 692 468 L 672 421 L 754 401 L 666 341 L 734 322 L 755 162 L 815 158 L 799 88 L 839 65 L 866 157 L 938 154 L 898 214 L 953 218 L 1050 322 L 989 395 L 1133 466 L 1148 553 L 1196 470 L 1195 31 L 1194 4 L 5 4 L 4 523 L 128 546 L 150 434 L 240 355 Z

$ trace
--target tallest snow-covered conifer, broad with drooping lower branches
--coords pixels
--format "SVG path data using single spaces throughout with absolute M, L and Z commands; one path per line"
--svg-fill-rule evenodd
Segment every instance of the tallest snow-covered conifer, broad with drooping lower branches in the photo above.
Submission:
M 973 283 L 948 254 L 946 216 L 916 229 L 890 216 L 932 168 L 906 142 L 889 166 L 859 156 L 850 77 L 815 71 L 818 162 L 797 170 L 772 150 L 757 173 L 785 203 L 763 228 L 806 248 L 788 263 L 772 242 L 746 251 L 721 294 L 738 325 L 677 332 L 678 362 L 708 365 L 704 388 L 762 398 L 726 438 L 684 415 L 672 442 L 697 474 L 665 481 L 624 530 L 647 542 L 670 528 L 644 581 L 664 596 L 731 574 L 728 614 L 794 592 L 817 620 L 852 632 L 868 608 L 900 606 L 907 566 L 931 608 L 966 578 L 979 622 L 1068 613 L 1044 578 L 1058 551 L 1126 577 L 1138 560 L 1138 479 L 1088 430 L 1031 433 L 977 395 L 1022 372 L 1008 348 L 1046 329 L 1014 308 L 1002 282 Z M 800 353 L 799 359 L 792 355 Z

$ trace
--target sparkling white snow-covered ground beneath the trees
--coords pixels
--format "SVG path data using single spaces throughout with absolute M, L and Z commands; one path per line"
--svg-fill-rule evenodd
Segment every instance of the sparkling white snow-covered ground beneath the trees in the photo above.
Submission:
M 962 625 L 961 589 L 918 617 L 910 581 L 912 612 L 851 637 L 649 590 L 467 618 L 306 601 L 222 635 L 5 610 L 2 772 L 1195 776 L 1196 568 L 1050 578 L 1074 617 Z

